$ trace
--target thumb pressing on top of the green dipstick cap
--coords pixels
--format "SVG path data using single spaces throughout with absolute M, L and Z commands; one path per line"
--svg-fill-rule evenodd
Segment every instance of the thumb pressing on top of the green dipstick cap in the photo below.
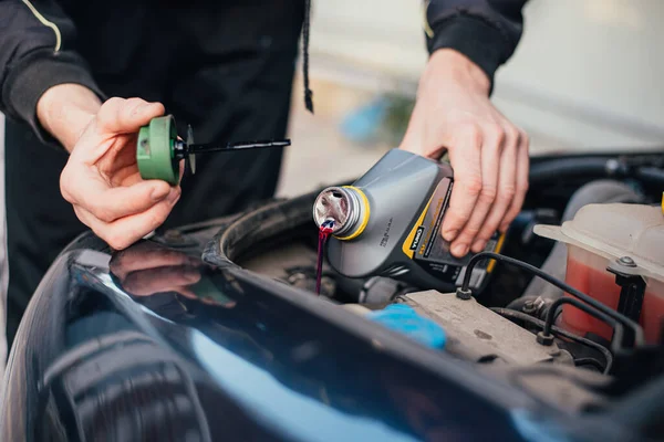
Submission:
M 160 103 L 148 103 L 143 98 L 113 97 L 100 108 L 97 127 L 102 133 L 133 134 L 164 113 L 164 105 Z

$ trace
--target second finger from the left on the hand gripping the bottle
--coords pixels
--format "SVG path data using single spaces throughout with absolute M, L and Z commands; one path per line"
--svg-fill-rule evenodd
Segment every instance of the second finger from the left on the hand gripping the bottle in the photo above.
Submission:
M 452 243 L 452 254 L 461 257 L 468 253 L 470 245 L 481 230 L 485 219 L 496 200 L 498 189 L 498 164 L 505 141 L 502 127 L 487 127 L 481 146 L 481 190 L 477 203 L 461 233 Z

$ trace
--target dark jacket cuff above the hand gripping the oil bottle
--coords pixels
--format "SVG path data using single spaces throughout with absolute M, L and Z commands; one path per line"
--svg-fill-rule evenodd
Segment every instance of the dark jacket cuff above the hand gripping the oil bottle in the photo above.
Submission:
M 496 70 L 515 52 L 528 0 L 427 0 L 425 31 L 429 53 L 450 48 L 468 56 L 494 84 Z

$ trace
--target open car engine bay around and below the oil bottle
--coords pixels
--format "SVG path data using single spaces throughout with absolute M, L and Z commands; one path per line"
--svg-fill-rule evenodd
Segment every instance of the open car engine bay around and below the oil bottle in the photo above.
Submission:
M 637 324 L 641 306 L 633 320 L 634 312 L 618 313 L 592 296 L 578 294 L 579 284 L 572 288 L 564 283 L 569 282 L 569 244 L 538 234 L 537 227 L 573 220 L 589 204 L 660 209 L 663 167 L 661 154 L 533 158 L 525 209 L 507 232 L 500 253 L 475 260 L 496 260 L 480 290 L 439 293 L 380 275 L 349 278 L 324 263 L 319 296 L 330 308 L 370 320 L 384 312 L 397 319 L 400 314 L 414 312 L 444 330 L 443 344 L 438 337 L 436 345 L 428 345 L 432 351 L 516 386 L 549 406 L 589 418 L 609 413 L 629 420 L 643 435 L 656 436 L 664 433 L 657 418 L 664 408 L 660 399 L 664 326 L 658 324 L 654 334 L 651 326 L 644 337 Z M 204 261 L 240 266 L 317 296 L 318 228 L 311 219 L 317 193 L 255 204 L 238 215 L 168 231 L 159 241 L 177 248 L 186 246 L 190 238 L 208 240 Z M 211 234 L 215 238 L 209 241 Z M 612 273 L 608 275 L 613 284 L 622 281 L 621 293 L 641 290 L 643 304 L 641 276 L 630 278 L 629 271 Z M 619 309 L 629 311 L 623 307 Z M 644 306 L 649 308 L 658 314 L 656 305 Z M 608 332 L 566 326 L 561 317 L 572 309 L 594 317 Z

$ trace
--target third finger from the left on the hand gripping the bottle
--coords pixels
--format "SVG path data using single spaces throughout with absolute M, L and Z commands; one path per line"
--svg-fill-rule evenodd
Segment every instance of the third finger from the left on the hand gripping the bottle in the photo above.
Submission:
M 498 225 L 505 218 L 507 210 L 516 196 L 517 187 L 517 152 L 519 149 L 519 131 L 513 126 L 505 130 L 505 144 L 502 155 L 500 156 L 500 166 L 498 167 L 498 193 L 491 211 L 477 234 L 473 246 L 473 252 L 479 253 L 487 245 Z

